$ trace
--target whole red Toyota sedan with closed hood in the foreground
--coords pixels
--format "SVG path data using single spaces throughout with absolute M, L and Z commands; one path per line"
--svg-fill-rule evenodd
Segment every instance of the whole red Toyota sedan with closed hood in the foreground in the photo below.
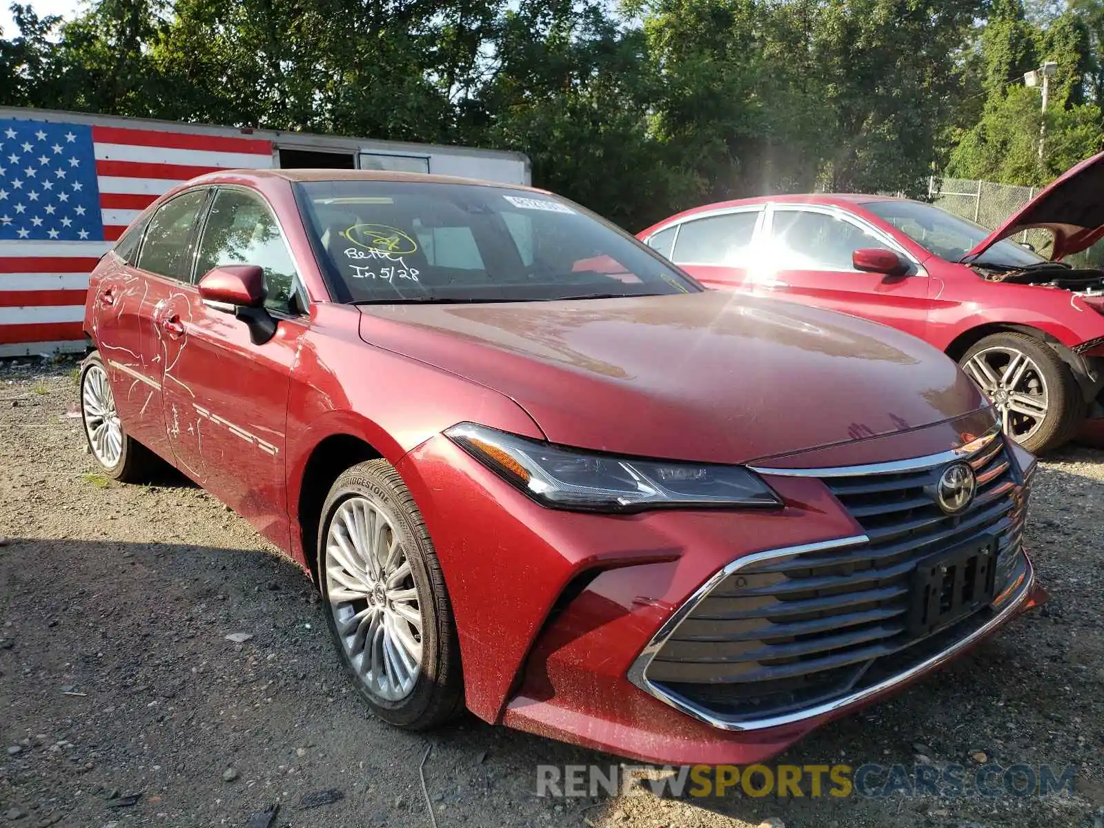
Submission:
M 286 550 L 395 725 L 752 762 L 1040 594 L 1033 460 L 952 360 L 703 290 L 551 193 L 199 178 L 85 326 L 96 459 L 160 458 Z

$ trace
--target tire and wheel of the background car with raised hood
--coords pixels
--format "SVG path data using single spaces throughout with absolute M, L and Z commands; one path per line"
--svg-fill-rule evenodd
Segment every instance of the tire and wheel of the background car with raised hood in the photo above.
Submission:
M 958 361 L 997 407 L 1005 434 L 1029 452 L 1055 449 L 1085 416 L 1081 389 L 1052 348 L 1026 333 L 994 333 Z

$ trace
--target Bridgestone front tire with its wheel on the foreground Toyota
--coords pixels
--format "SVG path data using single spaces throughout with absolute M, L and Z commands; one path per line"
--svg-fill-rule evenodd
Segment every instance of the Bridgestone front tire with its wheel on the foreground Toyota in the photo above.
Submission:
M 440 563 L 399 473 L 369 460 L 322 506 L 318 577 L 326 622 L 369 707 L 422 730 L 463 710 L 459 639 Z

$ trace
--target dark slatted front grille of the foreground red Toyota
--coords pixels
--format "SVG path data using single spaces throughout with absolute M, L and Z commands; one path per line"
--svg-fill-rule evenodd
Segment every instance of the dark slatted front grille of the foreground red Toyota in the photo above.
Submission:
M 817 471 L 864 538 L 736 561 L 651 654 L 647 682 L 733 721 L 777 716 L 856 692 L 868 673 L 884 673 L 874 665 L 913 648 L 919 657 L 926 650 L 914 646 L 924 638 L 946 638 L 948 630 L 910 631 L 917 563 L 991 540 L 1000 592 L 1026 566 L 1027 487 L 999 434 L 975 440 L 962 457 L 931 459 L 901 464 L 904 470 Z M 977 477 L 973 502 L 957 516 L 944 513 L 927 488 L 953 459 L 967 460 Z M 969 635 L 992 615 L 975 611 L 952 631 Z

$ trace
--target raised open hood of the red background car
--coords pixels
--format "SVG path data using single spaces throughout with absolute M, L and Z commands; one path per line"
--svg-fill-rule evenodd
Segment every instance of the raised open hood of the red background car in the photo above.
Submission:
M 1041 227 L 1054 234 L 1050 258 L 1058 261 L 1091 246 L 1104 235 L 1104 152 L 1063 172 L 1019 212 L 963 257 L 970 262 L 1001 238 Z

